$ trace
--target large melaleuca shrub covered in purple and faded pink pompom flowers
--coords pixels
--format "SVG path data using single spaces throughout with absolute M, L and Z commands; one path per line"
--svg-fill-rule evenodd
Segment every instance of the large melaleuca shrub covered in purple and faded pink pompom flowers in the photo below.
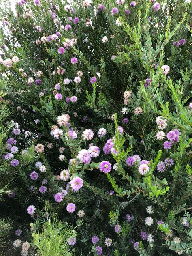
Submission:
M 11 120 L 19 150 L 36 151 L 27 168 L 7 159 L 12 200 L 36 229 L 45 200 L 65 222 L 83 218 L 69 241 L 76 255 L 192 252 L 190 6 L 35 0 L 1 10 Z

